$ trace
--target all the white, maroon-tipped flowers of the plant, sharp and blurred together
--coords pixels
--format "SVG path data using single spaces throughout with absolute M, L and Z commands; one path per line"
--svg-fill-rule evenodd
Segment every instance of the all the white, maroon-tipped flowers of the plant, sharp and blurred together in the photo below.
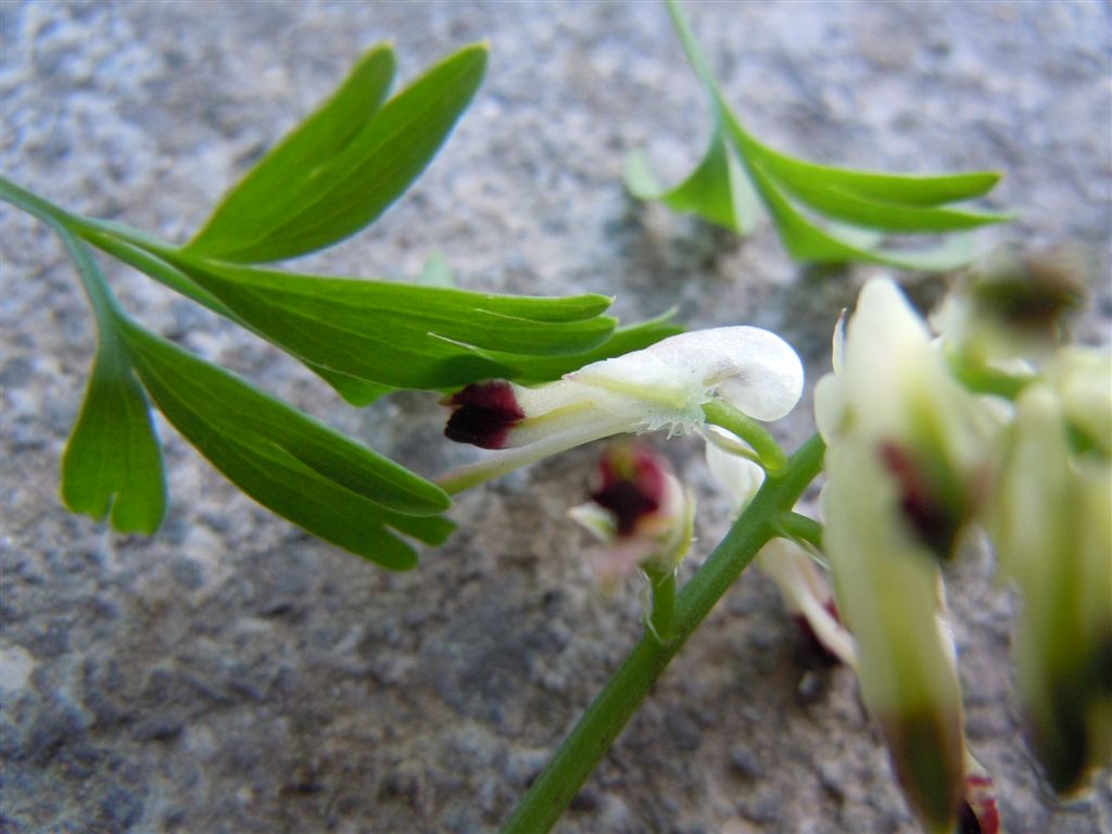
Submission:
M 815 388 L 825 526 L 772 519 L 781 535 L 756 559 L 788 610 L 856 671 L 932 832 L 999 831 L 992 781 L 965 741 L 945 599 L 946 565 L 973 528 L 1022 597 L 1017 683 L 1048 781 L 1074 791 L 1112 755 L 1112 355 L 1063 345 L 1080 298 L 1060 270 L 997 262 L 955 289 L 932 331 L 893 281 L 867 282 Z M 802 385 L 782 339 L 728 327 L 546 386 L 468 386 L 446 400 L 446 434 L 496 451 L 440 484 L 458 492 L 612 435 L 698 430 L 739 513 L 784 463 L 752 420 L 787 414 Z M 656 453 L 608 451 L 592 502 L 572 512 L 606 545 L 599 584 L 639 569 L 671 598 L 693 506 Z

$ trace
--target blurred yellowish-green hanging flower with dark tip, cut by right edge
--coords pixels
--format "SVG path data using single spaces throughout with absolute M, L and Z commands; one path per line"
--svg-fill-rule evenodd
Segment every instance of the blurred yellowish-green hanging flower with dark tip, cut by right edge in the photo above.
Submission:
M 1112 468 L 1071 457 L 1063 401 L 1021 395 L 989 513 L 1023 597 L 1017 683 L 1035 754 L 1060 792 L 1112 753 Z

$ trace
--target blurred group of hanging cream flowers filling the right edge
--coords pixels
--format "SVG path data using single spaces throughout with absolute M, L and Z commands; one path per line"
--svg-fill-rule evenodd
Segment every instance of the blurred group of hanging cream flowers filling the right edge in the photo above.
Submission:
M 1021 363 L 1022 338 L 975 338 L 980 308 L 949 304 L 960 327 L 935 339 L 893 282 L 870 281 L 815 390 L 838 610 L 907 798 L 940 832 L 974 775 L 942 580 L 971 525 L 1022 594 L 1020 694 L 1050 783 L 1081 786 L 1112 738 L 1112 364 L 1076 347 Z M 1017 369 L 1014 401 L 960 384 L 970 367 Z

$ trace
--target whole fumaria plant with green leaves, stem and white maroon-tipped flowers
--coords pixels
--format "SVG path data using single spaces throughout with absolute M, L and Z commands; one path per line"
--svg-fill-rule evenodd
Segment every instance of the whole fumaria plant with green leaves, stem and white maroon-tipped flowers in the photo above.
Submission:
M 892 248 L 884 236 L 950 235 L 1006 220 L 953 203 L 995 172 L 893 175 L 830 168 L 758 141 L 725 102 L 683 10 L 668 3 L 709 101 L 696 170 L 661 188 L 643 156 L 636 195 L 742 232 L 763 206 L 800 260 L 950 269 L 970 250 Z M 992 781 L 965 741 L 943 567 L 986 536 L 1022 595 L 1017 685 L 1048 783 L 1082 788 L 1112 753 L 1112 360 L 1069 340 L 1083 305 L 1054 262 L 1001 256 L 952 281 L 924 319 L 892 279 L 868 281 L 833 335 L 815 391 L 818 433 L 785 453 L 766 424 L 803 390 L 795 350 L 736 326 L 681 332 L 661 317 L 617 327 L 597 295 L 529 298 L 301 275 L 261 266 L 317 251 L 373 222 L 419 176 L 481 82 L 466 47 L 389 95 L 390 47 L 224 198 L 187 242 L 82 217 L 0 178 L 0 197 L 60 236 L 98 345 L 61 465 L 66 506 L 117 530 L 166 514 L 151 408 L 247 495 L 377 565 L 439 545 L 451 496 L 615 435 L 697 434 L 737 517 L 682 588 L 692 493 L 647 447 L 604 453 L 573 517 L 599 539 L 596 576 L 646 580 L 645 632 L 533 783 L 506 832 L 547 831 L 652 684 L 754 560 L 785 605 L 852 666 L 912 810 L 930 832 L 995 832 Z M 95 250 L 290 354 L 353 406 L 437 390 L 446 435 L 492 449 L 427 480 L 138 324 Z M 437 278 L 438 276 L 438 278 Z M 796 508 L 823 476 L 821 519 Z

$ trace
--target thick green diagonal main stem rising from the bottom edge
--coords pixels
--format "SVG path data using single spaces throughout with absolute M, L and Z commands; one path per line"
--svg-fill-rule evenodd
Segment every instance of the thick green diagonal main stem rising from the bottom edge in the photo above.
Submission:
M 788 459 L 781 477 L 765 480 L 681 592 L 672 639 L 662 643 L 646 634 L 633 648 L 533 783 L 506 823 L 504 834 L 539 834 L 555 825 L 668 662 L 761 548 L 777 535 L 777 517 L 795 505 L 822 470 L 824 450 L 822 439 L 815 435 Z

